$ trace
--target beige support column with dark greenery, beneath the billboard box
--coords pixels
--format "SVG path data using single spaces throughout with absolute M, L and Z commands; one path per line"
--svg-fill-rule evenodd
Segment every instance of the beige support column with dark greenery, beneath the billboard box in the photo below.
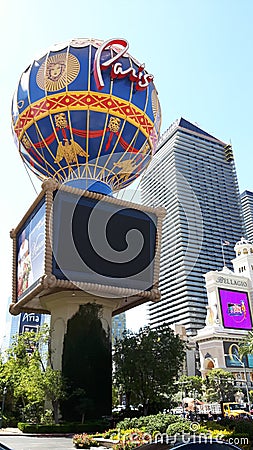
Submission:
M 75 291 L 41 299 L 51 312 L 53 368 L 67 380 L 64 420 L 81 420 L 83 412 L 90 418 L 111 414 L 111 322 L 120 302 Z

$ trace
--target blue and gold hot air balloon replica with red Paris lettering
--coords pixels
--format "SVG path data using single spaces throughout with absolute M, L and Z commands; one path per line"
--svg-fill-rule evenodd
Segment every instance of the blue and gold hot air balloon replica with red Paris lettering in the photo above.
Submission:
M 39 178 L 104 194 L 143 172 L 160 125 L 153 76 L 124 39 L 54 46 L 22 74 L 12 103 L 20 156 Z

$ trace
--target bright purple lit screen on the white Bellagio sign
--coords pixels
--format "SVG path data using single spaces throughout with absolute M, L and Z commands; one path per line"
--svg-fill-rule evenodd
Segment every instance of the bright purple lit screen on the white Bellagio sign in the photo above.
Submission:
M 247 292 L 219 289 L 223 326 L 251 330 L 252 320 Z

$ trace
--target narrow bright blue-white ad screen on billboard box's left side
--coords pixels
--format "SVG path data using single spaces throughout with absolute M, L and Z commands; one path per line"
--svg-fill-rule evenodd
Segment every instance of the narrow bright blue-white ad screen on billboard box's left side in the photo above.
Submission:
M 32 288 L 44 273 L 45 201 L 42 200 L 17 233 L 17 298 Z

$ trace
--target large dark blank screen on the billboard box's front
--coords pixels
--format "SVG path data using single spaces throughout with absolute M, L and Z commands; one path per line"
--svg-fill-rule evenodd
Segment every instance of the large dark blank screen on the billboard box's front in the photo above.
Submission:
M 156 234 L 155 214 L 59 190 L 52 273 L 62 280 L 150 290 Z

